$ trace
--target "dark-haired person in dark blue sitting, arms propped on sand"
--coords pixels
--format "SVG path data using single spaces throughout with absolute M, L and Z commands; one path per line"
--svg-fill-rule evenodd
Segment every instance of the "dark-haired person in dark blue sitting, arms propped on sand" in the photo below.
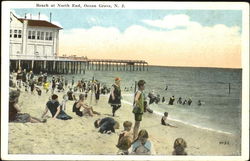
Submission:
M 61 119 L 61 120 L 72 119 L 71 116 L 67 115 L 61 109 L 60 103 L 58 102 L 58 96 L 56 94 L 53 94 L 51 98 L 52 99 L 46 103 L 46 107 L 45 107 L 44 113 L 42 115 L 42 118 L 47 114 L 47 112 L 49 110 L 53 119 L 55 119 L 55 118 Z

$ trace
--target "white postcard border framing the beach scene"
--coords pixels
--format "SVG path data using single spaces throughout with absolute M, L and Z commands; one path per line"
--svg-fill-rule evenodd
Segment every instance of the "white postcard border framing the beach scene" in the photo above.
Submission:
M 249 159 L 249 6 L 244 2 L 75 2 L 83 4 L 124 4 L 125 9 L 242 10 L 242 148 L 241 156 L 118 156 L 118 155 L 8 155 L 9 17 L 11 8 L 36 8 L 36 3 L 67 1 L 2 2 L 1 49 L 1 158 L 3 160 L 248 160 Z M 60 9 L 60 8 L 58 8 Z M 67 8 L 61 8 L 67 9 Z M 72 8 L 71 8 L 72 9 Z M 85 8 L 82 8 L 85 9 Z M 86 8 L 91 9 L 91 8 Z M 94 8 L 105 9 L 105 8 Z M 244 90 L 243 90 L 244 89 Z

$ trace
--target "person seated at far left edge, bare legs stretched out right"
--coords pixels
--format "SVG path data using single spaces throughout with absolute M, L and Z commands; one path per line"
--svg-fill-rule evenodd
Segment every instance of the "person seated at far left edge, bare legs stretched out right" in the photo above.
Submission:
M 19 90 L 11 90 L 9 93 L 9 122 L 16 123 L 44 123 L 46 120 L 39 120 L 38 118 L 31 117 L 27 113 L 21 113 L 21 107 L 18 104 L 20 96 Z

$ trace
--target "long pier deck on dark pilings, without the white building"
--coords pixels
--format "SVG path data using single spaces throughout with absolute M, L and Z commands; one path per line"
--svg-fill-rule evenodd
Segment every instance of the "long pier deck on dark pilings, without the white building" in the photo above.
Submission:
M 19 68 L 38 74 L 84 74 L 85 71 L 147 71 L 144 60 L 87 59 L 85 57 L 16 57 L 10 59 L 10 71 Z

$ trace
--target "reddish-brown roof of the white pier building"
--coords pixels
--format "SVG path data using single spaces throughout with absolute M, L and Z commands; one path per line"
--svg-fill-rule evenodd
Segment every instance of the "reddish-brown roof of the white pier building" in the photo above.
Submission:
M 17 19 L 22 23 L 25 20 L 24 18 L 17 18 Z M 59 30 L 62 29 L 61 27 L 45 20 L 31 20 L 31 19 L 26 19 L 26 20 L 28 20 L 28 26 L 51 27 L 51 28 L 58 28 Z

